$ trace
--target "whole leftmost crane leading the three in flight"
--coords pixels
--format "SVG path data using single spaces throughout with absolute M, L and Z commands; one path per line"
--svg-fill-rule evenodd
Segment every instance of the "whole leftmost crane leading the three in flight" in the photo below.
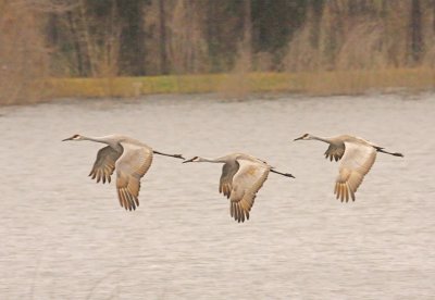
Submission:
M 101 180 L 105 184 L 105 182 L 111 182 L 111 175 L 116 170 L 116 190 L 120 204 L 129 211 L 139 207 L 140 178 L 151 166 L 153 153 L 184 159 L 181 154 L 154 151 L 141 141 L 121 135 L 104 137 L 74 135 L 65 140 L 90 140 L 108 145 L 98 151 L 89 176 L 97 179 L 97 183 Z

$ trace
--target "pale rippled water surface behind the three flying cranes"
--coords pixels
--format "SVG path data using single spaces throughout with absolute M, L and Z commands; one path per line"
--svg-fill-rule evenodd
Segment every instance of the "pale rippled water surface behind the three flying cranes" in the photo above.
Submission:
M 204 96 L 0 108 L 2 299 L 434 299 L 433 95 L 223 101 Z M 271 174 L 251 220 L 217 192 L 221 166 L 156 157 L 140 207 L 87 177 L 121 133 L 186 157 L 243 151 Z M 355 203 L 304 133 L 355 134 L 378 154 Z

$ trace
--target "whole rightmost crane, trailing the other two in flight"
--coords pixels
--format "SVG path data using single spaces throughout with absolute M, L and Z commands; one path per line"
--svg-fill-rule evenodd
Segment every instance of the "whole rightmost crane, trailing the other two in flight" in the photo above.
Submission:
M 321 140 L 330 145 L 324 153 L 325 158 L 331 161 L 333 159 L 335 161 L 340 160 L 334 193 L 341 202 L 345 200 L 348 202 L 349 198 L 355 201 L 355 193 L 374 164 L 377 152 L 403 157 L 401 153 L 385 151 L 384 148 L 365 139 L 349 135 L 322 138 L 304 134 L 295 140 Z

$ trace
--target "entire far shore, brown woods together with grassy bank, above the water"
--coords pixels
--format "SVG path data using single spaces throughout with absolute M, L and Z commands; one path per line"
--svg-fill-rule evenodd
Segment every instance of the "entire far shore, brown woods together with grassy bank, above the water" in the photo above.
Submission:
M 273 3 L 0 0 L 0 103 L 435 86 L 434 1 Z

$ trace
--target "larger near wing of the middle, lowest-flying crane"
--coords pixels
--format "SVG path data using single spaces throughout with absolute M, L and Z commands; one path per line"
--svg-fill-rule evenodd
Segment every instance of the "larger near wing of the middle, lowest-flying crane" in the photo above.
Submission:
M 239 168 L 233 177 L 229 213 L 237 222 L 249 220 L 256 195 L 268 179 L 270 166 L 248 160 L 237 160 Z

